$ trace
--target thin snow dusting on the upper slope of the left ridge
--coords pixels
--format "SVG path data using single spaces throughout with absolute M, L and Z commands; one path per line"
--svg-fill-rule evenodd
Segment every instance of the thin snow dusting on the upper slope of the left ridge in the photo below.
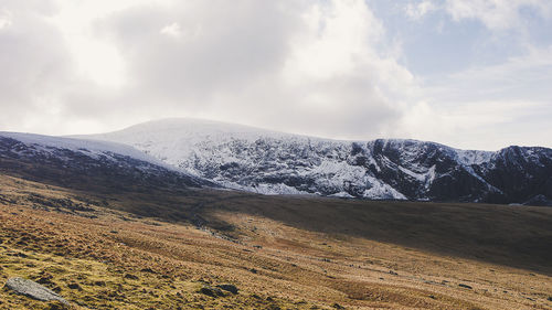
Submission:
M 103 173 L 115 179 L 118 177 L 121 185 L 125 183 L 123 180 L 132 179 L 157 179 L 158 183 L 171 179 L 171 182 L 193 186 L 212 184 L 130 146 L 110 141 L 0 131 L 0 160 L 3 160 L 2 169 L 8 168 L 9 160 L 17 160 L 84 175 Z

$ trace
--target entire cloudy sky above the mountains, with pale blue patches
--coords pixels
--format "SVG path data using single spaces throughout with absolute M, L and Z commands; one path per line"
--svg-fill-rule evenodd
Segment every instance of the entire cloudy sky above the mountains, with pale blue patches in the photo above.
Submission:
M 552 147 L 550 0 L 0 0 L 0 130 Z

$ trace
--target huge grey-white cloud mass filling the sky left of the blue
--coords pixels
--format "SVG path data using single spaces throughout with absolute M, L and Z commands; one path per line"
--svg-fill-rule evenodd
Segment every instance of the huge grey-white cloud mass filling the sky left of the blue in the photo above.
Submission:
M 29 20 L 10 26 L 19 45 L 0 36 L 18 58 L 0 57 L 28 75 L 17 87 L 4 77 L 0 98 L 28 125 L 3 117 L 3 128 L 76 133 L 199 116 L 368 138 L 393 127 L 414 85 L 362 0 L 59 0 L 47 13 L 14 3 L 13 19 Z

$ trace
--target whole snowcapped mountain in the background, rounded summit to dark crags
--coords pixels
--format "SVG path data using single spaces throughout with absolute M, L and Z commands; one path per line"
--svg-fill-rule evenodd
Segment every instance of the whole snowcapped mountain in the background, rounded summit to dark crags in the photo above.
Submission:
M 264 194 L 523 203 L 552 200 L 552 150 L 339 141 L 200 119 L 83 136 L 126 143 L 227 188 Z

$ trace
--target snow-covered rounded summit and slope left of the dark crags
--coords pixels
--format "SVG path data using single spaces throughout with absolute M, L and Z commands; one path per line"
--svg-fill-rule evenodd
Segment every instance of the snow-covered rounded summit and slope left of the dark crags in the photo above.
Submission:
M 343 161 L 349 142 L 199 119 L 164 119 L 87 138 L 128 143 L 167 163 L 224 186 L 264 194 L 348 193 L 405 199 L 390 185 Z M 301 184 L 295 184 L 294 180 Z M 302 180 L 302 181 L 299 181 Z

